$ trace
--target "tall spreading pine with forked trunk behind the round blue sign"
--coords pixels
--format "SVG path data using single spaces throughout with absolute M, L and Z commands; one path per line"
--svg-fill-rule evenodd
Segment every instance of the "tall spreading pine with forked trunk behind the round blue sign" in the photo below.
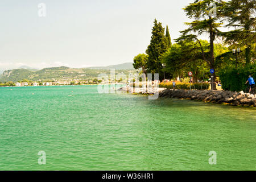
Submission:
M 212 3 L 216 5 L 216 9 L 212 8 Z M 188 6 L 184 8 L 184 11 L 187 13 L 188 18 L 194 19 L 193 22 L 186 23 L 189 28 L 187 30 L 181 31 L 180 38 L 176 39 L 177 42 L 182 41 L 197 41 L 201 47 L 201 52 L 204 60 L 208 63 L 211 69 L 216 69 L 216 63 L 214 61 L 214 40 L 217 38 L 218 27 L 221 26 L 222 23 L 218 23 L 218 20 L 221 17 L 219 13 L 220 8 L 222 7 L 223 2 L 221 0 L 194 0 L 193 3 L 190 3 Z M 216 11 L 216 15 L 213 12 Z M 192 34 L 189 34 L 191 33 Z M 209 56 L 205 52 L 203 46 L 201 46 L 201 42 L 199 40 L 199 36 L 202 34 L 208 34 L 210 39 L 210 52 Z M 216 80 L 216 73 L 213 73 L 213 81 Z M 216 85 L 213 84 L 213 89 L 216 90 Z

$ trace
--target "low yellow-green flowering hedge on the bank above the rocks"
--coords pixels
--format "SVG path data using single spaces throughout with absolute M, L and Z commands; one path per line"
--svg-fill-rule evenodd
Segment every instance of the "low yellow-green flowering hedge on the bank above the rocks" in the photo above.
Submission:
M 191 84 L 191 89 L 196 89 L 196 90 L 208 90 L 210 87 L 209 83 L 205 83 L 205 82 L 198 82 L 195 84 Z M 159 84 L 159 88 L 167 88 L 167 89 L 174 89 L 174 86 L 172 85 L 171 82 L 168 83 L 163 83 L 161 82 Z M 190 84 L 189 83 L 179 83 L 176 84 L 175 89 L 185 89 L 188 90 L 190 89 Z

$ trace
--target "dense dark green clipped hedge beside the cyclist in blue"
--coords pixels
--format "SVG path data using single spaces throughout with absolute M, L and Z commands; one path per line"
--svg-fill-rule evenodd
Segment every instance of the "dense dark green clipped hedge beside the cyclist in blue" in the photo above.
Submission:
M 256 64 L 247 65 L 245 68 L 223 68 L 219 75 L 222 89 L 240 92 L 248 86 L 245 82 L 249 75 L 256 77 Z

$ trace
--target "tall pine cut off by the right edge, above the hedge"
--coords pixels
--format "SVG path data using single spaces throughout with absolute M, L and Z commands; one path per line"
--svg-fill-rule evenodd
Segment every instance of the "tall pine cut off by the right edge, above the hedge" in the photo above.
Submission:
M 256 39 L 255 23 L 255 0 L 231 0 L 223 8 L 222 14 L 228 21 L 226 27 L 233 27 L 235 30 L 221 32 L 228 44 L 240 44 L 245 46 L 246 64 L 250 64 L 251 45 Z

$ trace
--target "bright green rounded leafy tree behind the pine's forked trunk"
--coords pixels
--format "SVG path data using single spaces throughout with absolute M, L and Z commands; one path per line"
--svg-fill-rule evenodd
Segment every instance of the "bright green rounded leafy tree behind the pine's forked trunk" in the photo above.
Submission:
M 200 40 L 200 42 L 206 51 L 205 56 L 209 57 L 209 43 L 207 40 Z M 228 48 L 220 44 L 214 44 L 214 55 L 218 56 L 226 51 L 229 51 Z M 218 63 L 215 69 L 216 72 L 218 72 L 222 64 L 225 64 L 224 59 L 221 58 L 216 62 Z M 210 76 L 210 67 L 202 56 L 198 42 L 173 44 L 171 49 L 162 56 L 162 61 L 166 64 L 164 70 L 170 73 L 170 78 L 187 76 L 189 71 L 193 72 L 194 80 L 203 80 L 203 78 Z

